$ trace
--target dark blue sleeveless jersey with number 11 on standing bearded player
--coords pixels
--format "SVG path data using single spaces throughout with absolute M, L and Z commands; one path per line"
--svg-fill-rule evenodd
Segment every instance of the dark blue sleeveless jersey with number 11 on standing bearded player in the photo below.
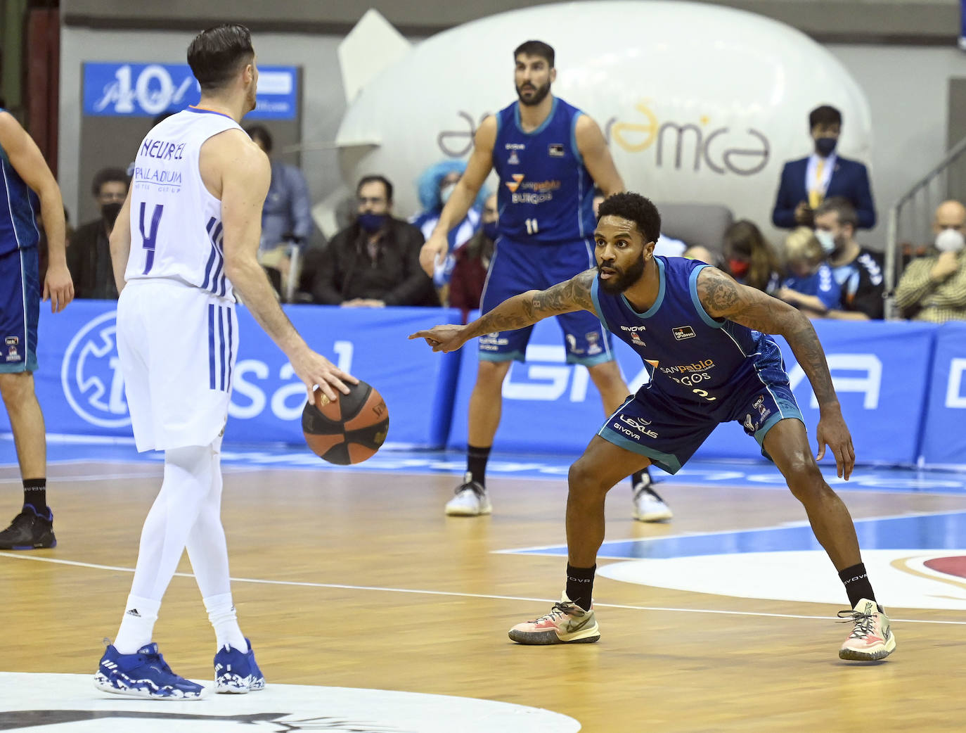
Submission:
M 533 132 L 520 125 L 520 103 L 497 113 L 493 166 L 499 175 L 499 233 L 514 242 L 573 242 L 593 234 L 594 182 L 577 149 L 577 107 L 554 97 Z

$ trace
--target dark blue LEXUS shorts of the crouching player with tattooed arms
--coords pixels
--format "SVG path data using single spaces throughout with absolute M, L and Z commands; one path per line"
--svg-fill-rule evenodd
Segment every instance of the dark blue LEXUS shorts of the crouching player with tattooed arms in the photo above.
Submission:
M 597 434 L 620 448 L 646 455 L 654 465 L 675 474 L 722 423 L 741 423 L 762 446 L 765 435 L 780 420 L 805 422 L 781 365 L 781 355 L 768 358 L 756 372 L 737 383 L 725 404 L 713 411 L 703 407 L 645 384 L 617 408 Z M 761 454 L 771 459 L 764 447 Z

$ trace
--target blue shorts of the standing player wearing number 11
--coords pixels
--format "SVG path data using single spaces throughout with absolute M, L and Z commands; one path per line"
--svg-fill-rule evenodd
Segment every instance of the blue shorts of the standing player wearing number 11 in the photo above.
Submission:
M 558 282 L 596 266 L 589 240 L 565 244 L 521 244 L 505 237 L 497 239 L 490 262 L 480 311 L 486 313 L 527 290 L 546 290 Z M 556 316 L 563 331 L 568 364 L 594 366 L 613 360 L 611 334 L 596 315 L 586 310 Z M 526 359 L 526 344 L 533 327 L 498 331 L 479 337 L 479 358 L 487 362 Z

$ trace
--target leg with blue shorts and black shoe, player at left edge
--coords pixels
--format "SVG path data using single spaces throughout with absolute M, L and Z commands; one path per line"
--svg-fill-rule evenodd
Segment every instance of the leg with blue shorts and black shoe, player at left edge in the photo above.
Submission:
M 14 281 L 0 294 L 0 331 L 8 335 L 0 361 L 0 395 L 14 433 L 23 482 L 23 510 L 0 532 L 0 549 L 32 549 L 57 544 L 53 513 L 46 505 L 46 431 L 34 387 L 37 368 L 37 322 L 40 316 L 37 250 L 3 255 L 0 268 L 15 270 Z M 14 341 L 12 343 L 11 341 Z

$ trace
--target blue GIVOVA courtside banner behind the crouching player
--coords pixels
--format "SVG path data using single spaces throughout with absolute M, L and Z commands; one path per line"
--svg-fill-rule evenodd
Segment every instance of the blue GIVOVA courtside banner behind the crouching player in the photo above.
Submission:
M 915 463 L 936 327 L 819 321 L 815 330 L 825 347 L 857 458 Z M 603 424 L 599 393 L 586 369 L 564 364 L 561 341 L 554 322 L 538 323 L 527 349 L 527 363 L 511 367 L 503 385 L 503 416 L 494 444 L 498 450 L 576 456 Z M 780 342 L 792 389 L 814 443 L 818 405 L 804 370 L 788 345 Z M 896 348 L 897 343 L 901 348 Z M 614 353 L 628 384 L 636 389 L 646 378 L 639 357 L 621 341 L 615 342 Z M 475 368 L 469 366 L 468 358 L 455 401 L 449 438 L 452 448 L 467 444 L 469 393 L 475 379 Z M 760 453 L 742 426 L 733 424 L 715 430 L 696 455 L 753 458 Z

